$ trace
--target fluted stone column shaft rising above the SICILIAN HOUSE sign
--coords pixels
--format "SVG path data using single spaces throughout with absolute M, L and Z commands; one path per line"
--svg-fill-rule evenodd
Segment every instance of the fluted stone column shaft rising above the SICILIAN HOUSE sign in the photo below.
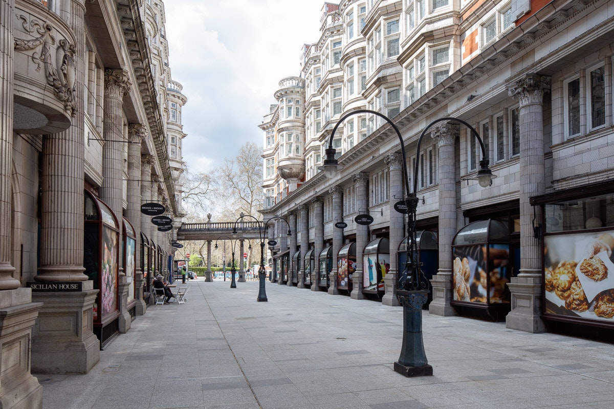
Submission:
M 85 4 L 71 1 L 68 18 L 74 33 L 75 107 L 64 132 L 42 143 L 41 267 L 36 281 L 85 281 L 84 245 L 84 83 Z

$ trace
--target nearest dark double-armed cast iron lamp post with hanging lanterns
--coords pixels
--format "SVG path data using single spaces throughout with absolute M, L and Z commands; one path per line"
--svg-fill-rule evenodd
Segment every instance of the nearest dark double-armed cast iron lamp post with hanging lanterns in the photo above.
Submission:
M 480 186 L 486 187 L 491 185 L 492 175 L 491 170 L 488 167 L 488 159 L 486 157 L 486 150 L 484 149 L 484 143 L 478 136 L 478 132 L 473 129 L 470 124 L 457 118 L 440 118 L 433 121 L 422 131 L 418 139 L 417 154 L 416 154 L 416 169 L 414 175 L 413 192 L 410 193 L 410 180 L 407 171 L 407 161 L 405 155 L 405 143 L 403 143 L 403 137 L 397 126 L 385 115 L 379 112 L 359 109 L 343 115 L 338 123 L 335 124 L 332 133 L 330 134 L 330 140 L 328 141 L 328 148 L 326 149 L 326 159 L 319 170 L 324 170 L 325 174 L 329 178 L 335 177 L 336 173 L 340 169 L 339 162 L 335 158 L 336 150 L 333 148 L 333 137 L 335 131 L 346 118 L 357 113 L 370 113 L 383 118 L 387 123 L 392 126 L 392 129 L 396 132 L 398 140 L 401 145 L 401 156 L 403 160 L 403 175 L 405 176 L 405 205 L 408 212 L 408 245 L 406 250 L 407 263 L 405 265 L 405 271 L 401 276 L 399 282 L 399 289 L 397 289 L 397 298 L 403 305 L 403 344 L 401 347 L 401 354 L 398 357 L 398 361 L 394 363 L 394 370 L 406 377 L 417 377 L 422 375 L 433 375 L 433 367 L 428 364 L 426 353 L 424 351 L 424 340 L 422 338 L 422 305 L 427 300 L 427 291 L 424 285 L 420 283 L 420 267 L 418 266 L 418 260 L 416 258 L 416 210 L 418 208 L 418 196 L 416 191 L 418 189 L 418 169 L 420 160 L 420 145 L 427 130 L 433 126 L 433 124 L 440 121 L 456 121 L 464 124 L 471 129 L 473 136 L 475 136 L 480 142 L 482 148 L 483 159 L 480 161 L 480 170 L 476 175 L 476 179 L 480 183 Z

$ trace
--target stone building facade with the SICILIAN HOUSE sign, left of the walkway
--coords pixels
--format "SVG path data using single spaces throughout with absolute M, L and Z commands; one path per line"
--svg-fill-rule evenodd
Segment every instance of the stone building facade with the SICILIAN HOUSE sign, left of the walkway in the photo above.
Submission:
M 187 100 L 159 0 L 1 0 L 0 16 L 0 407 L 31 409 L 31 373 L 87 373 L 168 272 L 173 232 L 141 205 L 181 222 Z

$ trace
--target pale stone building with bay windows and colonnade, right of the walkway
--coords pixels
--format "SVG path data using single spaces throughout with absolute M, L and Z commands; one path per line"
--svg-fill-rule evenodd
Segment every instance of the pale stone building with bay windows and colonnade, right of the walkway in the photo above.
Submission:
M 614 306 L 614 285 L 591 290 L 580 270 L 591 246 L 605 251 L 592 256 L 614 268 L 608 2 L 344 0 L 325 2 L 322 11 L 321 37 L 305 45 L 300 75 L 281 80 L 277 103 L 259 125 L 263 213 L 292 221 L 298 243 L 296 256 L 276 248 L 276 280 L 308 287 L 307 271 L 312 290 L 397 304 L 404 269 L 398 248 L 408 227 L 395 203 L 407 193 L 406 174 L 417 185 L 418 230 L 437 235 L 437 264 L 424 280 L 430 313 L 505 317 L 507 327 L 529 332 L 611 330 L 614 313 L 600 306 Z M 346 116 L 356 109 L 390 118 L 403 146 L 378 115 Z M 329 180 L 318 167 L 341 117 L 332 145 L 342 169 Z M 466 124 L 440 121 L 448 117 Z M 471 180 L 483 159 L 473 131 L 496 176 L 486 188 Z M 299 148 L 287 150 L 289 142 Z M 293 176 L 304 172 L 298 182 L 281 171 L 290 154 Z M 359 224 L 357 215 L 373 221 Z M 495 231 L 488 220 L 504 226 L 496 243 L 487 235 Z M 340 222 L 347 226 L 336 227 Z M 389 244 L 381 251 L 388 254 L 386 270 L 376 291 L 365 291 L 372 266 L 363 252 L 382 238 Z M 350 242 L 356 242 L 352 286 L 337 291 L 332 287 L 340 286 L 347 261 L 335 250 Z M 327 265 L 321 251 L 328 246 Z M 302 259 L 309 250 L 311 262 Z M 505 261 L 496 260 L 501 250 Z M 462 259 L 466 287 L 456 276 Z M 286 265 L 300 267 L 286 273 Z M 570 280 L 557 284 L 564 265 L 572 266 Z M 577 296 L 568 292 L 571 283 Z

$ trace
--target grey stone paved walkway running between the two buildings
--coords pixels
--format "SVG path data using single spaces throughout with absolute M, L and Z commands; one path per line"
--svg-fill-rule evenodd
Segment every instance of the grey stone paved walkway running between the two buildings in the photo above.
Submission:
M 87 375 L 37 375 L 45 409 L 614 407 L 612 344 L 423 314 L 432 377 L 392 370 L 402 308 L 267 283 L 190 281 Z

